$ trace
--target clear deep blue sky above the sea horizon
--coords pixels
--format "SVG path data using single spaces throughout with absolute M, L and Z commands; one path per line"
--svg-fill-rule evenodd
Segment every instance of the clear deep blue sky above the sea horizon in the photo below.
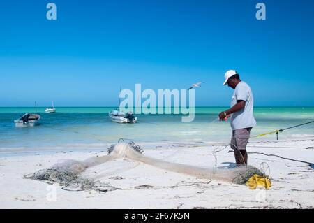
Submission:
M 57 4 L 57 21 L 46 4 Z M 314 1 L 3 1 L 0 106 L 115 106 L 119 87 L 186 89 L 228 106 L 237 69 L 255 106 L 314 106 Z

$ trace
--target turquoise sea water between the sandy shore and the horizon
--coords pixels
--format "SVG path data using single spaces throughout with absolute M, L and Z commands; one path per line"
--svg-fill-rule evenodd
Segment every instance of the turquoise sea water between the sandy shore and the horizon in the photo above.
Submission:
M 229 122 L 218 122 L 218 113 L 227 108 L 197 107 L 193 122 L 181 122 L 182 115 L 137 115 L 136 124 L 111 122 L 105 108 L 57 108 L 57 113 L 41 115 L 40 125 L 15 128 L 14 120 L 34 108 L 0 108 L 0 152 L 38 150 L 75 150 L 103 143 L 116 143 L 127 138 L 137 143 L 154 142 L 220 142 L 230 140 Z M 283 129 L 314 120 L 314 107 L 257 107 L 255 127 L 251 135 Z M 314 124 L 284 131 L 280 139 L 314 138 Z M 276 139 L 276 135 L 254 140 Z

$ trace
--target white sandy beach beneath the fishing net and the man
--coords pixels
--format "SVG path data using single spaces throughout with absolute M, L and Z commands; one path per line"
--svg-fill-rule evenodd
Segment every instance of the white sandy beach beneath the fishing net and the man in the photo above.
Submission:
M 155 143 L 144 145 L 144 155 L 180 164 L 212 167 L 211 145 Z M 314 140 L 251 142 L 248 152 L 314 162 Z M 105 150 L 104 148 L 103 150 Z M 217 154 L 218 167 L 232 166 L 230 148 Z M 0 208 L 313 208 L 314 169 L 297 161 L 248 154 L 250 165 L 269 165 L 272 187 L 251 190 L 215 180 L 165 171 L 128 159 L 88 168 L 88 175 L 112 187 L 110 192 L 66 191 L 61 186 L 24 179 L 24 174 L 49 168 L 59 159 L 82 160 L 106 152 L 54 152 L 0 157 Z M 49 199 L 55 189 L 55 201 Z

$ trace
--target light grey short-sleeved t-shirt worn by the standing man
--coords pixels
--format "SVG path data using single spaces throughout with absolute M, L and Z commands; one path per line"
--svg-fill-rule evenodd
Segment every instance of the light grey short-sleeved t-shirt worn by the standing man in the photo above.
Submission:
M 231 128 L 232 130 L 246 129 L 256 126 L 256 121 L 253 115 L 253 93 L 251 87 L 246 82 L 239 82 L 234 89 L 234 94 L 231 100 L 231 107 L 237 104 L 237 101 L 246 101 L 246 106 L 237 113 L 231 114 Z

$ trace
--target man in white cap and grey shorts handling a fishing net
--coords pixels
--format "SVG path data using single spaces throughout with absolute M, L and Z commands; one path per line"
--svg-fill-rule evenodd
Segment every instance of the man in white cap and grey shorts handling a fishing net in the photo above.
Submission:
M 234 158 L 237 165 L 248 164 L 248 154 L 246 145 L 250 138 L 250 131 L 256 126 L 256 121 L 253 116 L 253 93 L 251 87 L 240 80 L 237 71 L 230 70 L 225 73 L 225 82 L 223 85 L 228 85 L 234 89 L 234 94 L 231 100 L 231 108 L 219 114 L 219 120 L 227 120 L 231 117 L 231 148 L 234 150 Z

